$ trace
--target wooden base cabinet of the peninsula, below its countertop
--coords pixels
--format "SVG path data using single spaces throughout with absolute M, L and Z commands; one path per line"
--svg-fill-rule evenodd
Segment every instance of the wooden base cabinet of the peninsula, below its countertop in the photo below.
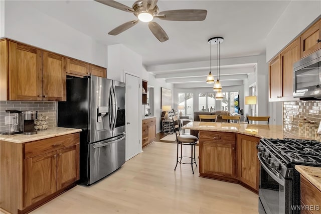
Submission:
M 199 136 L 200 176 L 240 183 L 258 193 L 260 138 L 212 131 Z

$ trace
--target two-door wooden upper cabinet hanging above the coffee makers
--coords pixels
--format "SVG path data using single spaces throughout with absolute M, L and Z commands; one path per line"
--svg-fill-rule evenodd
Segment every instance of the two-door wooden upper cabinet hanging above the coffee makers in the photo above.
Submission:
M 65 57 L 2 40 L 2 100 L 66 100 Z

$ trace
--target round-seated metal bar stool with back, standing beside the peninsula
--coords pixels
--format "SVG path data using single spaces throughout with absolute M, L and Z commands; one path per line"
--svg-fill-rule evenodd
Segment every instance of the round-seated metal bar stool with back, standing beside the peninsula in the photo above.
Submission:
M 199 139 L 194 135 L 181 135 L 177 116 L 173 116 L 172 118 L 173 118 L 173 123 L 174 123 L 174 130 L 173 131 L 176 134 L 176 142 L 177 142 L 176 166 L 175 166 L 174 170 L 176 170 L 178 163 L 191 164 L 192 172 L 194 174 L 193 164 L 195 163 L 195 165 L 197 166 L 196 159 L 195 159 L 195 145 L 197 144 L 197 141 Z M 181 156 L 180 157 L 179 157 L 179 145 L 181 145 Z M 183 145 L 191 146 L 191 157 L 183 156 L 183 153 L 182 153 L 182 146 Z M 193 147 L 194 147 L 194 157 L 193 157 Z M 189 163 L 183 162 L 182 158 L 191 158 L 191 162 L 189 162 Z

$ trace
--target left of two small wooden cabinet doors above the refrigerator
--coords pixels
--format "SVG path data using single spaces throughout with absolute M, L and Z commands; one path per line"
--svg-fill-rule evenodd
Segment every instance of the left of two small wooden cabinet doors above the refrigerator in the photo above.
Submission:
M 79 77 L 89 75 L 89 64 L 75 59 L 66 59 L 66 69 L 67 75 L 74 75 Z

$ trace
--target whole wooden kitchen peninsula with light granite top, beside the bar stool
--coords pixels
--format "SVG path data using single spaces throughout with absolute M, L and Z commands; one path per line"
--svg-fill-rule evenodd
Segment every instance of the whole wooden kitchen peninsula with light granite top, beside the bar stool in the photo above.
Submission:
M 299 138 L 283 134 L 280 125 L 255 125 L 193 121 L 183 129 L 199 131 L 201 177 L 239 183 L 258 193 L 261 138 Z

